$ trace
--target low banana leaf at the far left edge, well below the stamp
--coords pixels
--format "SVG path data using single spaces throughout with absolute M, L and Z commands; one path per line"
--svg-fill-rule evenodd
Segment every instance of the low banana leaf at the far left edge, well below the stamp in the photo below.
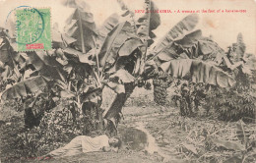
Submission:
M 14 99 L 35 93 L 47 86 L 48 80 L 41 76 L 32 77 L 26 81 L 20 81 L 3 91 L 1 98 Z

